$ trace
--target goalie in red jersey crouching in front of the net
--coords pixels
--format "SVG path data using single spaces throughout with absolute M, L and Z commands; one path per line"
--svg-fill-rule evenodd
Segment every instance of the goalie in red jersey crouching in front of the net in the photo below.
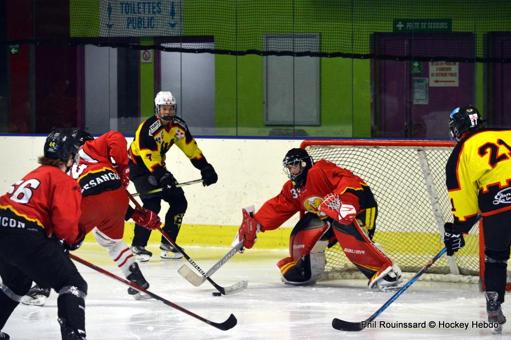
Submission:
M 346 257 L 369 279 L 370 288 L 398 286 L 401 269 L 371 241 L 378 206 L 364 180 L 334 163 L 314 163 L 300 148 L 289 150 L 283 165 L 290 180 L 253 216 L 243 210 L 235 242 L 244 241 L 244 247 L 251 248 L 258 232 L 277 229 L 295 213 L 304 212 L 291 232 L 290 256 L 277 263 L 283 282 L 315 282 L 326 264 L 324 250 L 339 242 Z

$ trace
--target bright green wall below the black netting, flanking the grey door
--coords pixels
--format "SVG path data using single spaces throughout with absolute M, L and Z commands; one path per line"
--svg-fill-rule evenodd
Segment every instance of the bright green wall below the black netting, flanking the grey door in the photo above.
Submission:
M 263 124 L 263 58 L 215 56 L 217 134 L 267 136 Z M 309 58 L 309 57 L 302 57 Z M 320 60 L 320 126 L 297 126 L 308 135 L 370 137 L 370 61 Z

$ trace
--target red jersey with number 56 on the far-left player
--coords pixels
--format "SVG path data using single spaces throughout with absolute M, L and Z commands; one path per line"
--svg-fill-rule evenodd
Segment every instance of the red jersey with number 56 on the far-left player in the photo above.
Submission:
M 80 187 L 55 166 L 41 165 L 0 196 L 0 231 L 40 231 L 76 243 Z

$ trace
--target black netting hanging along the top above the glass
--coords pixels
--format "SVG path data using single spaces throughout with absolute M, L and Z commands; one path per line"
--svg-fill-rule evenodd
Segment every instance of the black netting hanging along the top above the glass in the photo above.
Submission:
M 34 17 L 18 18 L 21 23 L 10 26 L 11 44 L 91 43 L 232 55 L 511 60 L 509 43 L 507 48 L 492 44 L 496 35 L 511 31 L 507 0 L 69 0 L 65 6 L 56 0 L 25 2 L 33 4 Z M 62 17 L 67 29 L 57 25 Z M 32 30 L 22 25 L 24 20 Z M 401 36 L 402 43 L 392 39 L 385 44 L 386 34 Z M 453 39 L 438 46 L 438 35 Z M 417 39 L 421 43 L 416 44 Z

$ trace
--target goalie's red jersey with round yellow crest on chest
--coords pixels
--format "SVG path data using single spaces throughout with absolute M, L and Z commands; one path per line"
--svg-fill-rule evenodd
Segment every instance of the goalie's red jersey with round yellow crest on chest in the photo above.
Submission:
M 305 186 L 296 189 L 288 180 L 281 193 L 266 201 L 254 218 L 261 224 L 261 231 L 277 229 L 299 211 L 327 218 L 319 210 L 319 205 L 331 192 L 356 196 L 360 203 L 359 212 L 376 207 L 375 197 L 362 178 L 332 162 L 320 160 L 309 169 Z

